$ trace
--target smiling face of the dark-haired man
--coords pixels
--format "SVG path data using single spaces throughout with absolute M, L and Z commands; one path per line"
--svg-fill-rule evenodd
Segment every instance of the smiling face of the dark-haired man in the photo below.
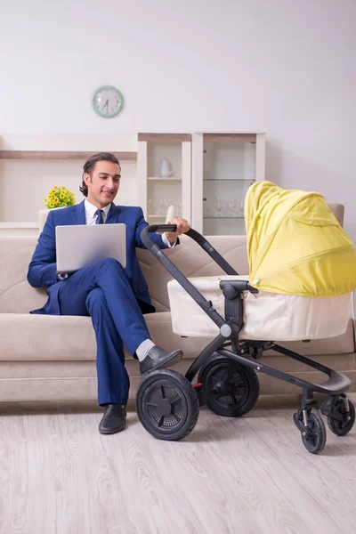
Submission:
M 84 175 L 88 201 L 98 208 L 108 206 L 117 196 L 121 169 L 111 161 L 98 161 L 90 174 Z

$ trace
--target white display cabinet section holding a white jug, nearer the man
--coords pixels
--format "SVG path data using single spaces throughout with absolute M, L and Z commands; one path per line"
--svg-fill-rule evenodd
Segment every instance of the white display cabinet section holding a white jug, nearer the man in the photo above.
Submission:
M 163 159 L 171 165 L 170 177 L 159 175 Z M 137 175 L 139 206 L 148 223 L 166 223 L 169 206 L 190 221 L 190 134 L 138 134 Z

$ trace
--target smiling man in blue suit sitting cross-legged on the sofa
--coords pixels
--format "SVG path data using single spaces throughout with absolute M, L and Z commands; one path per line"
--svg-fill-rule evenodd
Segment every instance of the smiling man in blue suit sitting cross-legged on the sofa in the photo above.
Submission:
M 50 211 L 32 260 L 28 282 L 32 287 L 47 287 L 44 307 L 32 313 L 51 315 L 90 315 L 96 336 L 98 402 L 104 407 L 99 425 L 101 433 L 117 433 L 125 428 L 125 405 L 129 378 L 125 369 L 124 344 L 140 360 L 140 372 L 173 366 L 182 351 L 166 352 L 153 344 L 143 313 L 155 312 L 148 286 L 137 260 L 136 247 L 145 248 L 141 232 L 148 223 L 142 208 L 115 206 L 121 168 L 109 152 L 96 153 L 84 166 L 82 186 L 86 197 L 76 206 Z M 125 223 L 126 266 L 107 258 L 69 276 L 57 275 L 55 227 L 70 224 Z M 190 229 L 176 218 L 177 230 L 163 236 L 153 233 L 160 248 L 174 247 L 178 236 Z

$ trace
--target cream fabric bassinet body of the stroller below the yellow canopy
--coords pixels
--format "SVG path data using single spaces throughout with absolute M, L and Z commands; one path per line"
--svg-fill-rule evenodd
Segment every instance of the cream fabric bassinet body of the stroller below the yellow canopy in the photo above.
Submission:
M 225 317 L 223 282 L 247 279 L 245 276 L 190 278 L 190 283 L 214 309 Z M 213 337 L 219 328 L 198 306 L 177 280 L 168 282 L 172 326 L 180 336 Z M 243 293 L 243 326 L 239 339 L 303 341 L 326 339 L 344 334 L 352 317 L 352 295 L 325 298 L 279 295 L 259 291 Z

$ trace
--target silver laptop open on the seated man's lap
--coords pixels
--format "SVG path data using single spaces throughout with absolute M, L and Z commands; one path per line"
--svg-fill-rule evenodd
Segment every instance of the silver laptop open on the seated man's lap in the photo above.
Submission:
M 126 225 L 56 226 L 57 272 L 74 272 L 105 258 L 126 265 Z

